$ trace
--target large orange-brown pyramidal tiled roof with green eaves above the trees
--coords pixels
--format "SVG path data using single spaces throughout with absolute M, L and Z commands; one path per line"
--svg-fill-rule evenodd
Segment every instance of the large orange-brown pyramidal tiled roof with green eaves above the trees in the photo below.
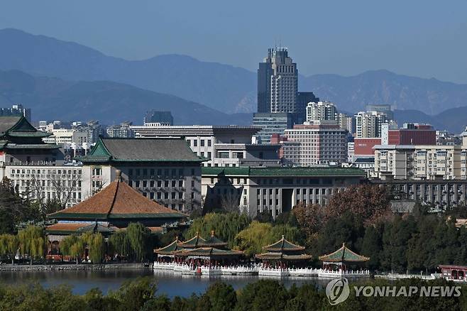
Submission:
M 123 182 L 120 171 L 116 170 L 115 181 L 103 190 L 73 207 L 49 214 L 48 218 L 57 221 L 45 229 L 49 241 L 53 242 L 86 231 L 109 236 L 126 229 L 131 222 L 140 222 L 152 232 L 158 232 L 165 224 L 184 222 L 187 215 L 144 197 Z

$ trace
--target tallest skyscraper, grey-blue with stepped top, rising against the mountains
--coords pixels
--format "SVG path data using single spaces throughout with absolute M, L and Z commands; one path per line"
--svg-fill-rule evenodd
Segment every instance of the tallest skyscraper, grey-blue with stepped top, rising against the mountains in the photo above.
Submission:
M 297 112 L 297 64 L 287 48 L 270 48 L 258 68 L 258 112 Z

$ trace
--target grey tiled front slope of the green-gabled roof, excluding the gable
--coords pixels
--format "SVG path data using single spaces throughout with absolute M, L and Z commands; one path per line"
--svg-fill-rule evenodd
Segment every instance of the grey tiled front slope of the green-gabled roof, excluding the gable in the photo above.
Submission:
M 112 160 L 193 160 L 201 159 L 185 139 L 101 138 Z

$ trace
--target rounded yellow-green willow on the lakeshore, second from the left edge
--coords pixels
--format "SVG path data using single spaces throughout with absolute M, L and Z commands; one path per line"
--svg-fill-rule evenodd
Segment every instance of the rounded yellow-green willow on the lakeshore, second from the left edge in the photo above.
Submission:
M 28 226 L 26 229 L 18 231 L 19 247 L 23 256 L 31 258 L 41 257 L 45 251 L 44 231 L 38 226 Z

